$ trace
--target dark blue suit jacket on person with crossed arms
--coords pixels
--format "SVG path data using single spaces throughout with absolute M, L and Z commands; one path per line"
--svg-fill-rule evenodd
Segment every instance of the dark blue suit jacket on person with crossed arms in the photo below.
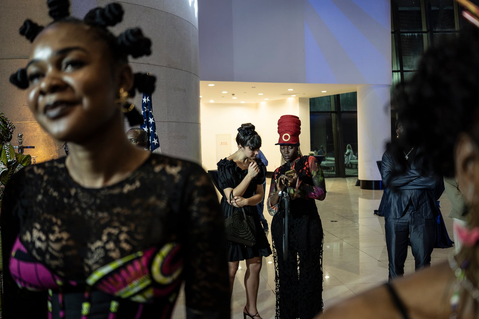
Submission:
M 418 150 L 420 154 L 421 150 Z M 400 218 L 411 200 L 414 209 L 424 219 L 433 219 L 439 214 L 436 201 L 444 191 L 441 176 L 432 175 L 420 156 L 414 158 L 411 167 L 398 172 L 397 161 L 386 151 L 383 154 L 381 177 L 384 185 L 391 188 L 384 202 L 384 217 Z

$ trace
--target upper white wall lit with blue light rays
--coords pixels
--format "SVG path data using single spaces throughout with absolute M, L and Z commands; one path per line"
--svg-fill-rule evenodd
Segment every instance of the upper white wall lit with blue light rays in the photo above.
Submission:
M 390 0 L 201 0 L 200 78 L 391 83 Z

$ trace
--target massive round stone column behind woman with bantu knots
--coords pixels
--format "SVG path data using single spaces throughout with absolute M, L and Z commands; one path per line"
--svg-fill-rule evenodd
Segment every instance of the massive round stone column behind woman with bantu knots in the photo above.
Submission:
M 91 8 L 109 2 L 72 0 L 72 15 L 82 18 Z M 163 154 L 201 163 L 197 0 L 125 0 L 121 4 L 124 20 L 113 32 L 139 26 L 152 41 L 152 55 L 132 59 L 131 65 L 135 72 L 157 77 L 153 115 Z M 26 65 L 31 48 L 18 34 L 23 20 L 51 22 L 46 0 L 0 1 L 0 12 L 1 110 L 14 122 L 15 133 L 23 133 L 23 145 L 35 145 L 25 154 L 38 155 L 38 162 L 62 156 L 63 143 L 39 127 L 26 106 L 25 92 L 8 82 L 11 73 Z M 134 102 L 139 110 L 141 96 L 137 94 Z

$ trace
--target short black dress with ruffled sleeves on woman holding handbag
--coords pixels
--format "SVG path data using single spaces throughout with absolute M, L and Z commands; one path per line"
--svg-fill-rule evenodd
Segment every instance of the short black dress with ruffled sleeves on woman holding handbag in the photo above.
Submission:
M 256 163 L 260 168 L 260 173 L 255 176 L 248 188 L 243 194 L 244 198 L 250 198 L 253 196 L 256 186 L 262 185 L 266 178 L 266 166 L 262 163 L 261 160 L 257 159 Z M 222 159 L 218 162 L 218 183 L 219 187 L 222 189 L 231 187 L 235 188 L 241 183 L 243 178 L 248 174 L 248 169 L 240 169 L 238 165 L 233 160 Z M 269 256 L 273 252 L 271 251 L 271 246 L 266 238 L 266 234 L 263 231 L 263 226 L 260 222 L 260 217 L 258 215 L 258 209 L 256 206 L 244 206 L 246 215 L 252 216 L 254 220 L 254 225 L 256 228 L 256 244 L 252 247 L 247 247 L 236 242 L 228 242 L 228 261 L 240 261 L 251 259 L 253 257 L 260 256 Z M 228 217 L 228 210 L 230 205 L 225 197 L 221 198 L 221 209 L 223 211 L 223 216 L 226 219 Z

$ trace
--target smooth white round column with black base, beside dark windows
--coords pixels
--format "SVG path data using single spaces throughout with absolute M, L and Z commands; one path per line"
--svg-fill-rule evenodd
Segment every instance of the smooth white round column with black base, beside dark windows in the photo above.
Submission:
M 391 140 L 390 85 L 364 85 L 357 89 L 358 178 L 362 189 L 382 189 L 380 161 Z

